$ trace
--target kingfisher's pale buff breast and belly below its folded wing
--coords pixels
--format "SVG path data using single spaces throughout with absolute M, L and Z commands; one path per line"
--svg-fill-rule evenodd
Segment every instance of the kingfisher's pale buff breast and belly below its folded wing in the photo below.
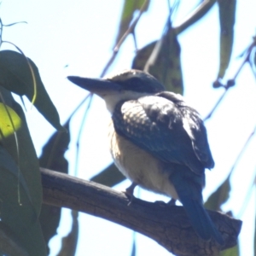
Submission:
M 169 174 L 162 169 L 160 160 L 125 137 L 119 136 L 114 131 L 112 121 L 109 124 L 108 138 L 114 163 L 125 177 L 144 189 L 178 199 L 177 192 L 168 178 Z

